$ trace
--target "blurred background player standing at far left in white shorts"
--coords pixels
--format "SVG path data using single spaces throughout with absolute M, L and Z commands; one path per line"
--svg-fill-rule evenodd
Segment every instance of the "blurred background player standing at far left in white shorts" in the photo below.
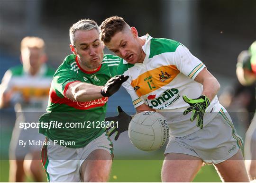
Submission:
M 24 182 L 25 175 L 30 174 L 34 181 L 42 182 L 41 145 L 29 141 L 44 141 L 45 136 L 38 128 L 25 129 L 20 123 L 37 123 L 44 113 L 54 70 L 45 64 L 45 42 L 41 38 L 25 37 L 20 50 L 22 66 L 9 68 L 0 85 L 0 107 L 15 107 L 17 117 L 9 146 L 9 181 Z

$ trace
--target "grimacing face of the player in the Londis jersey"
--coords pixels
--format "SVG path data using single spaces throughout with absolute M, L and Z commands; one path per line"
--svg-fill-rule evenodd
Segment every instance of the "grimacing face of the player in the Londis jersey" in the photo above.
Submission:
M 105 45 L 117 56 L 125 59 L 130 64 L 143 62 L 143 50 L 138 42 L 137 30 L 132 27 L 116 33 Z

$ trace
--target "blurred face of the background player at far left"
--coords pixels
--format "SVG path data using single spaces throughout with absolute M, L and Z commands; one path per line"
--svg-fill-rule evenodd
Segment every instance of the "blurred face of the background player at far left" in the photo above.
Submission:
M 46 61 L 46 54 L 37 48 L 25 48 L 21 51 L 21 60 L 26 70 L 37 70 Z

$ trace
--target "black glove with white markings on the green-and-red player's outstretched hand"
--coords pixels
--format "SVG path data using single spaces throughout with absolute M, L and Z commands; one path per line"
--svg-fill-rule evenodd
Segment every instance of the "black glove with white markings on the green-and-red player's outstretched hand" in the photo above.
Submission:
M 103 97 L 110 97 L 119 90 L 121 84 L 128 80 L 129 76 L 116 75 L 111 77 L 110 80 L 101 89 L 101 95 Z

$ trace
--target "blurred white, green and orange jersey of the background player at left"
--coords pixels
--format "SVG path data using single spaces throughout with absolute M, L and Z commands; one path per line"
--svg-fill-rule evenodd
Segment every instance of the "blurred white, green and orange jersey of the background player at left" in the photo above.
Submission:
M 40 67 L 36 75 L 30 75 L 22 65 L 6 71 L 1 84 L 3 91 L 20 94 L 22 100 L 15 106 L 15 112 L 23 113 L 27 121 L 37 122 L 38 119 L 29 117 L 31 113 L 45 111 L 54 72 L 46 64 Z

